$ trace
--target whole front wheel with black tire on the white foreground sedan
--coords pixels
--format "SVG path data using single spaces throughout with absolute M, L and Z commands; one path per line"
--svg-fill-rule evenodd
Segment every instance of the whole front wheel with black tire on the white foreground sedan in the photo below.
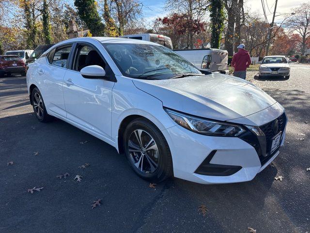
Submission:
M 168 143 L 153 123 L 142 117 L 137 118 L 128 124 L 123 138 L 127 161 L 142 179 L 159 183 L 172 175 L 172 158 Z

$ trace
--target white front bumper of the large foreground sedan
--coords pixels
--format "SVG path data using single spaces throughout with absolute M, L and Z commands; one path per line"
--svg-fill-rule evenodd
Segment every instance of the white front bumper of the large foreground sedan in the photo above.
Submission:
M 238 183 L 252 180 L 279 154 L 279 150 L 261 163 L 257 151 L 237 137 L 206 136 L 176 125 L 163 130 L 171 150 L 173 173 L 177 178 L 202 184 Z M 285 139 L 285 129 L 280 141 Z M 210 164 L 241 167 L 229 175 L 202 175 L 198 168 L 212 155 Z M 263 164 L 263 165 L 262 165 Z

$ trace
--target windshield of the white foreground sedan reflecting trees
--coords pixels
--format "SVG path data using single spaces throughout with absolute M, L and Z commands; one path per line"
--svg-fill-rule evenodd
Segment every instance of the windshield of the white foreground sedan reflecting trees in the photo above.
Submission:
M 202 74 L 172 50 L 148 44 L 104 43 L 124 76 L 137 79 L 171 79 L 180 75 Z

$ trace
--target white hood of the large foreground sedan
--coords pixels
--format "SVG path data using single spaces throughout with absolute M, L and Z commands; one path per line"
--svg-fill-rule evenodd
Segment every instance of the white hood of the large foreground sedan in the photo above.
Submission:
M 133 83 L 161 100 L 164 107 L 223 121 L 257 113 L 277 102 L 245 80 L 218 73 L 169 80 L 135 79 Z

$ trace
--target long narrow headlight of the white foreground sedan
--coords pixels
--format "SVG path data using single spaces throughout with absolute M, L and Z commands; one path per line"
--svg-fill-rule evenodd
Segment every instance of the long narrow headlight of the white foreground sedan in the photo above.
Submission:
M 205 135 L 237 137 L 246 130 L 239 125 L 202 119 L 164 108 L 168 115 L 182 127 Z

